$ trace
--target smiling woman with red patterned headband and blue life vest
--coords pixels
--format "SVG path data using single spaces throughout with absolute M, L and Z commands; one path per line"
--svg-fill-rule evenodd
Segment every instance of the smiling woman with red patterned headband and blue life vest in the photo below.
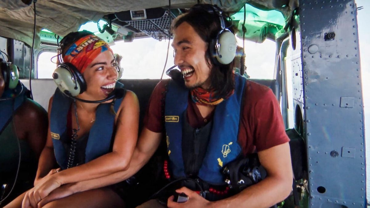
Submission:
M 83 86 L 76 86 L 83 91 L 77 98 L 104 100 L 117 85 L 121 85 L 117 83 L 118 66 L 112 50 L 92 33 L 68 34 L 61 41 L 60 54 L 63 62 L 72 64 L 85 80 L 85 91 Z M 61 89 L 62 85 L 59 86 Z M 7 207 L 37 207 L 52 191 L 58 192 L 58 189 L 73 186 L 75 182 L 104 177 L 128 168 L 138 135 L 139 104 L 136 95 L 127 91 L 123 98 L 99 104 L 85 103 L 63 92 L 69 97 L 57 89 L 50 98 L 47 142 L 39 159 L 34 188 Z M 53 169 L 55 159 L 60 168 Z M 60 196 L 44 207 L 122 207 L 123 200 L 114 190 L 111 186 L 65 198 Z

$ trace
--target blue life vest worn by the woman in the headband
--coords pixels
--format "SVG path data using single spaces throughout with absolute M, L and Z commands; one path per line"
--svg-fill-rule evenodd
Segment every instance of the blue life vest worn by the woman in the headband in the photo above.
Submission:
M 117 87 L 123 84 L 116 83 Z M 114 111 L 117 112 L 123 98 L 116 99 Z M 72 99 L 64 95 L 59 88 L 55 90 L 50 113 L 50 131 L 53 139 L 54 154 L 58 165 L 67 169 L 68 155 L 64 149 L 63 141 L 71 138 L 67 135 L 67 114 L 72 104 Z M 101 103 L 95 113 L 95 123 L 90 129 L 87 146 L 85 149 L 85 163 L 110 152 L 115 115 L 110 111 L 111 103 Z

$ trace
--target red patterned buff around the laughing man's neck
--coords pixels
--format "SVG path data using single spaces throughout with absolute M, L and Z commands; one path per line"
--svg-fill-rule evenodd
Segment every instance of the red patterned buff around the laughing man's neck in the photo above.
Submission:
M 197 103 L 199 105 L 218 105 L 224 100 L 224 98 L 213 98 L 212 95 L 214 93 L 215 90 L 205 90 L 201 87 L 196 87 L 191 90 L 191 98 L 194 103 Z M 231 91 L 231 93 L 229 93 L 225 99 L 230 97 L 233 93 L 234 90 Z

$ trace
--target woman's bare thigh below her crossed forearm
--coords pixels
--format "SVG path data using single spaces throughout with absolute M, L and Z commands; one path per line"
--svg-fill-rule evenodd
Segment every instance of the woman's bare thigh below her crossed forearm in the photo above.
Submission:
M 43 208 L 124 207 L 124 201 L 110 188 L 98 188 L 79 192 L 44 205 Z

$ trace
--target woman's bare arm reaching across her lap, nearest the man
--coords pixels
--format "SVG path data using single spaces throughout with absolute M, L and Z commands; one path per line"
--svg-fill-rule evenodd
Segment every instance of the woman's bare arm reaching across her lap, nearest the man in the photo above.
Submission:
M 124 171 L 134 151 L 139 124 L 139 103 L 136 95 L 127 91 L 115 119 L 115 138 L 112 152 L 86 164 L 49 174 L 36 187 L 27 192 L 22 207 L 34 207 L 51 191 L 63 184 L 104 177 Z

